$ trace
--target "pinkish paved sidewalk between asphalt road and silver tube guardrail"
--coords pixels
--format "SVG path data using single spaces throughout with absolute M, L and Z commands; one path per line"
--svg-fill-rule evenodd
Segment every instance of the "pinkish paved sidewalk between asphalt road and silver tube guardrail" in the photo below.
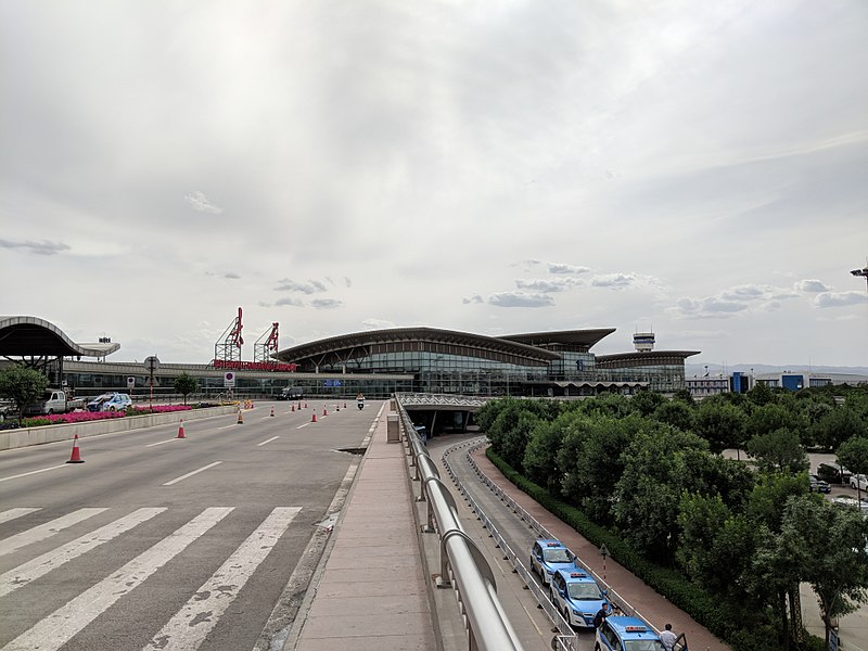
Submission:
M 405 447 L 386 442 L 387 405 L 284 651 L 438 647 Z

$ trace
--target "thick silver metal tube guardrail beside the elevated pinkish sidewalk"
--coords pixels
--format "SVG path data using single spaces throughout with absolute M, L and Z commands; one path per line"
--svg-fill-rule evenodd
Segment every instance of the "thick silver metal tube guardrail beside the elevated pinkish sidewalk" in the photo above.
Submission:
M 422 532 L 434 533 L 441 542 L 441 575 L 437 587 L 455 589 L 468 631 L 470 651 L 523 651 L 497 598 L 497 583 L 488 561 L 464 533 L 455 499 L 416 432 L 407 411 L 395 400 L 410 454 L 414 478 L 421 484 L 420 501 L 427 502 L 427 522 Z

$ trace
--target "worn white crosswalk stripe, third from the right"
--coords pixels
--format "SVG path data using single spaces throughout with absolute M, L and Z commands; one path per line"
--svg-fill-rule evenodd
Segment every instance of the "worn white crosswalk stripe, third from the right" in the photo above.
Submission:
M 73 559 L 80 557 L 82 553 L 99 547 L 103 542 L 107 542 L 112 538 L 119 536 L 124 532 L 128 532 L 142 522 L 151 520 L 151 518 L 162 513 L 165 510 L 165 507 L 139 509 L 138 511 L 120 518 L 111 524 L 106 524 L 105 526 L 100 527 L 90 534 L 86 534 L 80 538 L 76 538 L 75 540 L 67 542 L 66 545 L 59 547 L 53 551 L 43 553 L 33 561 L 24 563 L 23 565 L 18 565 L 5 574 L 0 574 L 0 597 L 9 595 L 11 591 L 27 585 L 31 580 L 36 580 L 55 567 L 60 567 L 67 561 L 72 561 Z

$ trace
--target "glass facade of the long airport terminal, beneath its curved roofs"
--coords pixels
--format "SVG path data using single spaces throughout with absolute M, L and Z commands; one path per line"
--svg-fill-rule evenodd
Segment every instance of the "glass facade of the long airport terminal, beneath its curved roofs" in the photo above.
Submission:
M 64 360 L 63 381 L 78 395 L 117 391 L 137 399 L 173 395 L 175 380 L 184 372 L 199 381 L 199 399 L 276 397 L 286 386 L 301 387 L 309 397 L 345 399 L 358 393 L 370 398 L 394 393 L 582 397 L 646 390 L 672 393 L 685 387 L 680 354 L 598 358 L 582 343 L 551 342 L 531 347 L 472 336 L 461 341 L 408 337 L 363 345 L 354 342 L 345 347 L 340 346 L 342 343 L 316 355 L 282 358 L 298 365 L 295 372 L 235 371 L 231 387 L 226 383 L 226 370 L 212 365 L 162 365 L 151 386 L 142 365 L 68 358 Z

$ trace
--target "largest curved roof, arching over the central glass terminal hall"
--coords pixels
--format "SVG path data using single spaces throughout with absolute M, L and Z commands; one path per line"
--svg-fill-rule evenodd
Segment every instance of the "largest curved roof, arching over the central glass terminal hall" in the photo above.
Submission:
M 523 357 L 535 363 L 548 363 L 559 359 L 560 355 L 529 346 L 521 342 L 508 341 L 502 337 L 484 336 L 457 332 L 455 330 L 441 330 L 437 328 L 390 328 L 388 330 L 368 330 L 353 334 L 332 336 L 292 348 L 285 348 L 275 355 L 281 361 L 298 362 L 311 357 L 319 357 L 341 350 L 352 350 L 371 344 L 388 344 L 396 342 L 425 341 L 438 344 L 452 344 L 490 350 L 506 355 Z

